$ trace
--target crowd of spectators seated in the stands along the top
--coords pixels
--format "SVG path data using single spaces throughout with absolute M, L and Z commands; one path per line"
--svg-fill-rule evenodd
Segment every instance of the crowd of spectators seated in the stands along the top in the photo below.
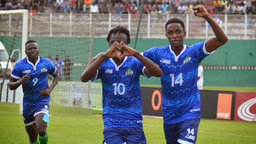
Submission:
M 211 14 L 255 14 L 256 0 L 145 0 L 143 13 L 184 14 L 193 6 L 207 5 Z M 212 5 L 213 4 L 213 5 Z M 139 13 L 141 0 L 1 0 L 0 10 L 14 10 L 23 6 L 32 13 Z M 211 7 L 213 6 L 213 8 Z

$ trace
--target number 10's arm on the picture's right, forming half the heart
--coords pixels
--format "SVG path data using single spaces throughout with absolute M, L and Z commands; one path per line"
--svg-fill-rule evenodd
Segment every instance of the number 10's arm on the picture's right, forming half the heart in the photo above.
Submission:
M 136 59 L 138 59 L 143 65 L 145 65 L 144 73 L 150 76 L 160 77 L 163 74 L 163 71 L 161 68 L 156 65 L 153 61 L 148 59 L 147 57 L 140 54 L 138 51 L 134 50 L 133 48 L 130 48 L 127 44 L 124 42 L 120 42 L 120 48 L 124 50 L 121 57 L 124 56 L 134 56 Z

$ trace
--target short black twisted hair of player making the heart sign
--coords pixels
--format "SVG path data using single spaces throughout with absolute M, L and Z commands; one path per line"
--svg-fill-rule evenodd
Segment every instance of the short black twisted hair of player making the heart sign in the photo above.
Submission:
M 126 36 L 127 36 L 127 44 L 130 44 L 130 42 L 131 42 L 130 31 L 129 31 L 125 26 L 117 26 L 117 27 L 111 29 L 111 30 L 109 31 L 108 37 L 107 37 L 107 41 L 108 41 L 108 42 L 110 41 L 110 36 L 111 36 L 113 33 L 114 33 L 114 35 L 115 35 L 116 33 L 119 33 L 119 35 L 120 35 L 120 33 L 126 34 Z

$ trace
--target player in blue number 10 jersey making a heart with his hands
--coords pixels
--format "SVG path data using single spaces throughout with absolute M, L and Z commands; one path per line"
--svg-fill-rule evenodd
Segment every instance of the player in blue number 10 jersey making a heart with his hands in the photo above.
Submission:
M 160 77 L 155 63 L 130 48 L 130 31 L 109 31 L 110 48 L 97 55 L 81 76 L 83 82 L 102 81 L 104 144 L 146 144 L 142 126 L 139 76 Z

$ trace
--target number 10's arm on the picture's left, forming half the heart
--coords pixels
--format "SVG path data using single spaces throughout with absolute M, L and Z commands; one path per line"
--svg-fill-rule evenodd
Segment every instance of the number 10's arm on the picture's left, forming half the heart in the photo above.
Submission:
M 96 59 L 93 63 L 91 63 L 84 71 L 83 74 L 81 76 L 81 81 L 83 82 L 87 82 L 90 79 L 95 78 L 96 74 L 97 74 L 97 70 L 98 68 L 102 65 L 102 63 L 104 61 L 106 61 L 106 59 L 108 59 L 109 57 L 113 58 L 113 57 L 117 57 L 121 60 L 120 55 L 117 55 L 117 53 L 115 52 L 117 49 L 119 48 L 119 43 L 117 41 L 115 41 L 113 43 L 113 45 L 104 53 L 104 54 L 98 54 L 99 57 L 98 59 Z

